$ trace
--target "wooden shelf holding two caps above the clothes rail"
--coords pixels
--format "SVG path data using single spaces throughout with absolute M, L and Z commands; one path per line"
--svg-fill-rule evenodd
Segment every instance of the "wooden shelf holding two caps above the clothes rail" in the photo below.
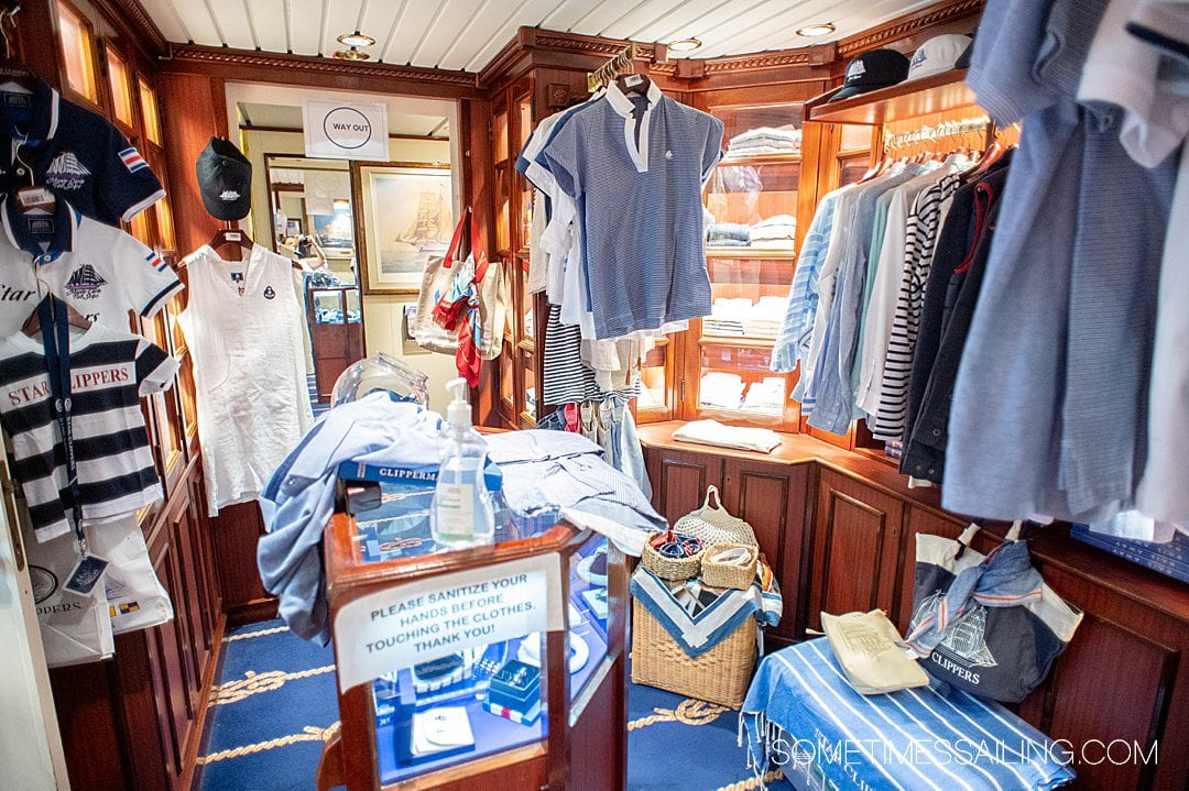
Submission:
M 837 91 L 822 94 L 806 103 L 805 120 L 870 126 L 963 107 L 976 108 L 965 75 L 965 69 L 954 69 L 830 103 L 829 97 Z

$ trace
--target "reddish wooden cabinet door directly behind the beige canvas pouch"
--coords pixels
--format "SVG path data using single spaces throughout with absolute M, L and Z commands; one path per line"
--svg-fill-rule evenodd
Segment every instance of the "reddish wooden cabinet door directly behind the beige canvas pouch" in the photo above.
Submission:
M 895 613 L 904 502 L 851 477 L 823 469 L 813 514 L 813 555 L 806 622 L 820 613 Z

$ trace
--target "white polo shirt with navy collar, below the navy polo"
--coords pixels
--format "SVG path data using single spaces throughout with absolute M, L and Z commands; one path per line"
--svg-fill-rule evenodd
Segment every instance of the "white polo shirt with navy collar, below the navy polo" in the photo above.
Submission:
M 0 224 L 0 337 L 20 330 L 46 286 L 88 321 L 125 330 L 128 311 L 147 318 L 182 290 L 161 255 L 62 200 L 26 215 L 2 198 Z

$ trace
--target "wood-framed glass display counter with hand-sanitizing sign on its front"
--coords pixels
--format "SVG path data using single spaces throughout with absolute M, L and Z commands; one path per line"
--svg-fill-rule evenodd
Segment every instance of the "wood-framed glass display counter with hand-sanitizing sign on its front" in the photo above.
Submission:
M 342 727 L 320 787 L 622 789 L 623 553 L 552 512 L 504 520 L 493 544 L 441 550 L 432 487 L 398 488 L 385 483 L 379 508 L 327 526 Z M 556 584 L 533 587 L 551 576 Z M 558 628 L 523 614 L 534 608 Z M 371 632 L 352 624 L 379 618 L 391 619 L 388 637 L 358 637 Z M 397 644 L 392 666 L 364 656 Z

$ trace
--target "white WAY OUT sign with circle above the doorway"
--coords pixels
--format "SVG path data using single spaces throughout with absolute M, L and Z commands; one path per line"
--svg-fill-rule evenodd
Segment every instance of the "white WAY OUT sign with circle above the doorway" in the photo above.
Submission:
M 307 99 L 302 106 L 302 120 L 307 157 L 389 159 L 386 105 Z

